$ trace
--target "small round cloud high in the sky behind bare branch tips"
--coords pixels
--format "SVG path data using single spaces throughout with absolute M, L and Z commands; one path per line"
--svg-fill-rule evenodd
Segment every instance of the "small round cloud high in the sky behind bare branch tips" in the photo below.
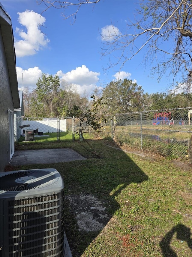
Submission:
M 113 25 L 107 25 L 101 28 L 101 40 L 112 42 L 120 36 L 119 29 Z

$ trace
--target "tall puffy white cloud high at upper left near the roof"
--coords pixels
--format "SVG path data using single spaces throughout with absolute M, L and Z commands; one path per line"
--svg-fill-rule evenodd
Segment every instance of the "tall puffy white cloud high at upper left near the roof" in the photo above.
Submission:
M 15 42 L 16 57 L 35 55 L 42 47 L 46 47 L 50 42 L 39 29 L 40 21 L 41 25 L 44 25 L 46 19 L 40 14 L 29 10 L 22 13 L 18 12 L 17 14 L 19 14 L 19 23 L 26 27 L 27 32 L 16 28 L 16 33 L 22 38 Z

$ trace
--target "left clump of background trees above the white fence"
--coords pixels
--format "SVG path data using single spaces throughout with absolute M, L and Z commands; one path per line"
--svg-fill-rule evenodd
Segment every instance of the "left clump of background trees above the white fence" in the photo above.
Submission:
M 59 80 L 57 75 L 46 75 L 38 79 L 32 92 L 24 90 L 25 115 L 27 117 L 68 117 L 73 105 L 82 112 L 89 106 L 87 97 L 81 97 L 73 84 Z

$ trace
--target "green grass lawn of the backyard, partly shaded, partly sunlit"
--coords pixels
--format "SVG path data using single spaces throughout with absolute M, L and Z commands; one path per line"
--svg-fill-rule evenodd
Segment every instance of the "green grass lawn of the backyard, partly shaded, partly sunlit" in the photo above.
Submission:
M 52 133 L 53 134 L 53 133 Z M 65 185 L 65 232 L 73 257 L 192 256 L 192 171 L 164 158 L 151 159 L 109 147 L 107 140 L 89 140 L 102 158 L 77 141 L 38 138 L 17 149 L 72 148 L 86 157 L 22 169 L 55 168 Z M 116 146 L 118 148 L 118 146 Z M 105 226 L 79 231 L 67 196 L 95 196 L 106 208 Z M 86 206 L 85 206 L 86 207 Z

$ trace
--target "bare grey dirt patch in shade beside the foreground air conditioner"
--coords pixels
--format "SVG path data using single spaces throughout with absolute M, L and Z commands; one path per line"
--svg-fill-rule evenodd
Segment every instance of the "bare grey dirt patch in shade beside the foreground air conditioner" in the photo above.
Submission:
M 69 201 L 79 231 L 100 231 L 110 220 L 103 203 L 93 195 L 70 195 L 65 199 Z

